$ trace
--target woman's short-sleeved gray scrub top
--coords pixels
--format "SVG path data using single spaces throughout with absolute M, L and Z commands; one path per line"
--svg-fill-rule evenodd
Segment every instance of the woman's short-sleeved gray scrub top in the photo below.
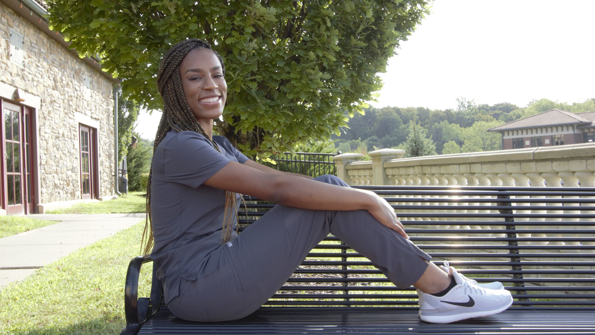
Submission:
M 163 281 L 165 303 L 179 296 L 181 278 L 196 280 L 209 253 L 221 245 L 226 191 L 202 183 L 227 163 L 248 160 L 227 138 L 213 139 L 222 153 L 201 134 L 172 130 L 153 156 L 151 218 L 155 247 L 151 258 Z M 234 231 L 232 238 L 235 235 Z

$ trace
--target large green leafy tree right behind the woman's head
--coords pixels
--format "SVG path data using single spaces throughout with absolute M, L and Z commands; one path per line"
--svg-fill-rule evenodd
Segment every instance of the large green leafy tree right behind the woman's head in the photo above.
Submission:
M 400 41 L 430 0 L 48 0 L 49 20 L 81 55 L 101 58 L 142 108 L 161 108 L 161 55 L 201 38 L 223 57 L 220 134 L 259 156 L 327 139 L 381 88 Z

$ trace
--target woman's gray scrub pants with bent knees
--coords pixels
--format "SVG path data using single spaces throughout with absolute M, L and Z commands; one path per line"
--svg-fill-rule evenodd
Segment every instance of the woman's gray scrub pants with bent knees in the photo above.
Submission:
M 349 187 L 336 176 L 315 180 Z M 177 317 L 227 321 L 256 311 L 280 289 L 328 233 L 372 261 L 397 287 L 415 283 L 431 256 L 384 226 L 367 210 L 306 210 L 277 205 L 242 234 L 215 249 L 203 278 L 182 279 L 168 303 Z

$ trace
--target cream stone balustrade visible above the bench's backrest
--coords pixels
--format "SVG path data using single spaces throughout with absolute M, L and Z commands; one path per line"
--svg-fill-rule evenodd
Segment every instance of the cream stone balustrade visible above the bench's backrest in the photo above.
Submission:
M 337 176 L 349 185 L 561 187 L 563 181 L 565 187 L 593 187 L 595 178 L 595 142 L 402 158 L 404 153 L 381 149 L 367 162 L 351 153 L 333 159 Z

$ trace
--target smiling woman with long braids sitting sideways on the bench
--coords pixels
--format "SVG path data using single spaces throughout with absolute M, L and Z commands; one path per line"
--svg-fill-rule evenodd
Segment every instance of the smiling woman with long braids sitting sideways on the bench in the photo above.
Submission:
M 148 191 L 146 252 L 158 265 L 170 311 L 185 320 L 249 315 L 329 232 L 372 260 L 396 286 L 413 284 L 422 320 L 453 322 L 501 312 L 506 290 L 490 290 L 440 269 L 408 240 L 390 205 L 334 176 L 312 180 L 249 160 L 212 135 L 227 96 L 224 63 L 206 42 L 187 39 L 164 55 L 164 110 Z M 239 194 L 278 205 L 235 231 Z M 144 236 L 143 236 L 144 239 Z M 499 283 L 492 283 L 498 287 Z

